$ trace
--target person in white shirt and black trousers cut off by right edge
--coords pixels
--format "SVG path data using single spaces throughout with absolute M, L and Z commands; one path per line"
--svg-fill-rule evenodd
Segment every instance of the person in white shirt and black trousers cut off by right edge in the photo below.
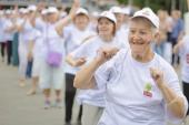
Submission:
M 183 37 L 181 41 L 179 41 L 173 48 L 173 54 L 181 56 L 182 59 L 182 70 L 181 70 L 181 80 L 183 94 L 189 101 L 189 35 Z M 189 111 L 187 112 L 187 116 L 189 115 Z M 186 118 L 183 124 L 187 125 Z

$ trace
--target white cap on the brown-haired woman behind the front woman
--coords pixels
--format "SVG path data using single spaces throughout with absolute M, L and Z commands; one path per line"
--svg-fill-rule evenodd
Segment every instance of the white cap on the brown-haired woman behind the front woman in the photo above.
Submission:
M 99 15 L 98 20 L 99 20 L 100 18 L 108 18 L 109 20 L 113 21 L 115 24 L 117 24 L 117 19 L 116 19 L 116 17 L 115 17 L 115 14 L 113 14 L 112 12 L 110 12 L 110 11 L 103 11 L 103 12 Z

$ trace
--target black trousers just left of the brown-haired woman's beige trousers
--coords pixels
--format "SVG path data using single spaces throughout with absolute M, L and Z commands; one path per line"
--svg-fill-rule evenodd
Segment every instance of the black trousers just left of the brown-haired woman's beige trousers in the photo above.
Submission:
M 73 87 L 73 80 L 74 80 L 74 75 L 66 73 L 66 96 L 64 96 L 66 118 L 64 118 L 64 121 L 67 123 L 69 123 L 71 121 L 72 106 L 73 106 L 74 96 L 76 96 L 76 87 Z M 78 116 L 78 121 L 81 119 L 81 114 L 82 114 L 82 106 L 80 106 L 80 113 Z

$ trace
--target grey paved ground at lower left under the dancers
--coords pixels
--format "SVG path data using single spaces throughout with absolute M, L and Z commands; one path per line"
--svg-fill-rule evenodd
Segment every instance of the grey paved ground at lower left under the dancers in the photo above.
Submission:
M 20 87 L 18 67 L 0 62 L 0 125 L 63 125 L 64 110 L 54 106 L 43 110 L 41 90 L 38 88 L 33 96 L 27 96 L 30 86 L 31 81 L 27 79 L 26 86 Z M 54 104 L 54 92 L 51 94 L 51 102 Z M 72 123 L 76 123 L 78 105 L 74 103 Z

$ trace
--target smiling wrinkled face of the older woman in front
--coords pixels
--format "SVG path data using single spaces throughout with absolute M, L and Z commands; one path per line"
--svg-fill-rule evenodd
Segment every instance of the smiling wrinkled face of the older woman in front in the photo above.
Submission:
M 150 50 L 151 43 L 155 41 L 152 24 L 142 21 L 130 22 L 129 44 L 132 53 L 142 54 Z

